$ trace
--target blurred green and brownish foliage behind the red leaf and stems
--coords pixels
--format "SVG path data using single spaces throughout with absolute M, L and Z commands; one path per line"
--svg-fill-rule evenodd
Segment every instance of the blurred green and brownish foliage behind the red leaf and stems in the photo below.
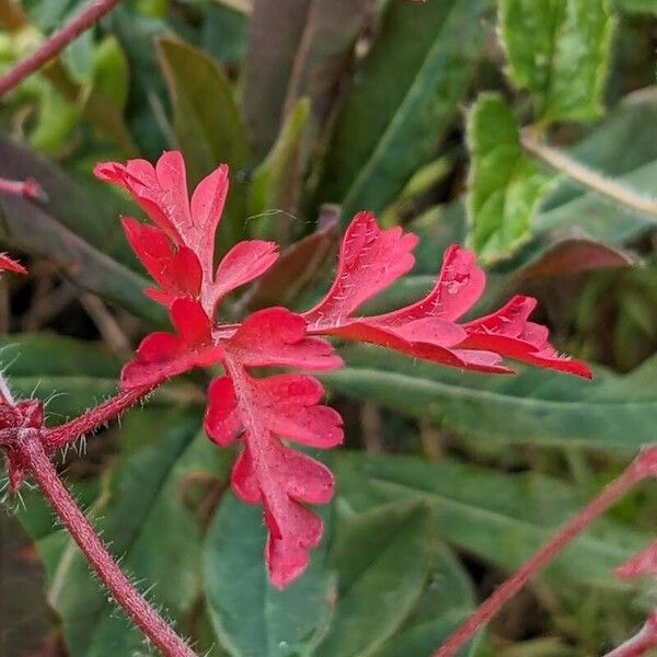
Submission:
M 0 0 L 0 67 L 78 0 Z M 655 0 L 126 0 L 0 107 L 0 246 L 32 276 L 0 280 L 0 359 L 51 424 L 116 389 L 165 319 L 99 160 L 180 148 L 191 184 L 232 171 L 220 249 L 289 245 L 285 267 L 227 309 L 307 307 L 359 209 L 422 242 L 379 307 L 431 286 L 464 241 L 485 310 L 540 299 L 591 382 L 519 368 L 466 374 L 345 347 L 323 377 L 348 442 L 309 572 L 266 581 L 261 511 L 227 491 L 234 454 L 200 430 L 203 372 L 62 454 L 77 497 L 137 580 L 212 656 L 428 656 L 506 573 L 595 496 L 657 425 Z M 653 85 L 653 87 L 652 87 Z M 321 229 L 321 230 L 319 230 Z M 325 456 L 323 458 L 326 458 Z M 104 657 L 148 646 L 99 590 L 36 495 L 0 515 L 0 653 Z M 593 655 L 655 603 L 612 570 L 655 533 L 644 487 L 598 521 L 470 655 Z M 143 585 L 146 588 L 148 585 Z

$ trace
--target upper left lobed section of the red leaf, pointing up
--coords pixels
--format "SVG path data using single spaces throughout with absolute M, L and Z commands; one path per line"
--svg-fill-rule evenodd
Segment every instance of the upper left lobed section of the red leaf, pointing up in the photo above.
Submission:
M 100 163 L 94 172 L 126 188 L 159 227 L 124 220 L 132 250 L 161 287 L 147 292 L 155 301 L 171 304 L 181 296 L 200 298 L 214 316 L 222 297 L 266 272 L 278 257 L 273 242 L 241 242 L 215 273 L 215 235 L 228 194 L 226 164 L 200 181 L 191 203 L 178 151 L 165 152 L 154 168 L 146 160 L 130 160 L 125 165 Z

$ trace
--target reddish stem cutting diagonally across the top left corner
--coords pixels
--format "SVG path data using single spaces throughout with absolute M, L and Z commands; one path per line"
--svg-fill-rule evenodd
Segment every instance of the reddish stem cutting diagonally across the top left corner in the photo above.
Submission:
M 92 0 L 74 19 L 51 34 L 41 48 L 20 61 L 0 78 L 0 96 L 4 95 L 16 84 L 20 84 L 49 59 L 56 57 L 82 32 L 89 30 L 89 27 L 100 21 L 107 12 L 112 11 L 119 2 L 120 0 Z

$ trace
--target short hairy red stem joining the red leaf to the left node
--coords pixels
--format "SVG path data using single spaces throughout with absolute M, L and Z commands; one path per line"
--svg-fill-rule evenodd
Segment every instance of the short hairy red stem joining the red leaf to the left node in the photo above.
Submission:
M 84 415 L 76 417 L 58 427 L 46 429 L 42 435 L 42 443 L 48 453 L 77 440 L 80 436 L 97 429 L 101 425 L 114 419 L 124 411 L 134 406 L 138 401 L 148 395 L 154 385 L 140 385 L 119 392 L 100 406 L 92 408 Z

